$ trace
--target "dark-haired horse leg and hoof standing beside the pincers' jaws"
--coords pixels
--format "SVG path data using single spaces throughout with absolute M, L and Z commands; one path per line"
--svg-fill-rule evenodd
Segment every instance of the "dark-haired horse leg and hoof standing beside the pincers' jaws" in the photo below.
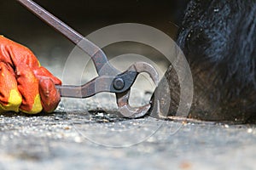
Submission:
M 255 1 L 189 1 L 177 45 L 193 76 L 190 118 L 248 122 L 256 117 Z M 180 87 L 172 65 L 166 80 L 157 89 L 162 96 L 160 110 L 171 103 L 168 114 L 175 116 Z

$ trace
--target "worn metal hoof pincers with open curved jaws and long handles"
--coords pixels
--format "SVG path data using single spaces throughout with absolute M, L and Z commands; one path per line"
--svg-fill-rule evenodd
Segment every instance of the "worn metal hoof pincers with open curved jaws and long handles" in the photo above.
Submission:
M 32 11 L 33 14 L 36 14 L 41 20 L 44 20 L 49 26 L 54 27 L 56 31 L 61 32 L 65 37 L 78 45 L 86 54 L 89 54 L 94 62 L 99 76 L 82 86 L 56 86 L 60 91 L 61 97 L 88 98 L 101 92 L 110 92 L 116 94 L 119 112 L 123 116 L 137 118 L 144 116 L 148 112 L 151 107 L 150 104 L 141 107 L 131 107 L 128 100 L 131 86 L 139 73 L 147 72 L 154 84 L 158 85 L 158 73 L 152 65 L 145 62 L 137 62 L 131 65 L 127 71 L 120 72 L 109 63 L 106 54 L 104 54 L 101 48 L 57 19 L 53 14 L 50 14 L 32 0 L 17 1 Z

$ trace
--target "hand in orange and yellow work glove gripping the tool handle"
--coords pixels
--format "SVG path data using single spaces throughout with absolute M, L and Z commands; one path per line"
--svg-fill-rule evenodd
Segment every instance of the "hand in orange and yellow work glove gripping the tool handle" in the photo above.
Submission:
M 0 36 L 0 112 L 52 112 L 61 100 L 61 81 L 28 48 Z

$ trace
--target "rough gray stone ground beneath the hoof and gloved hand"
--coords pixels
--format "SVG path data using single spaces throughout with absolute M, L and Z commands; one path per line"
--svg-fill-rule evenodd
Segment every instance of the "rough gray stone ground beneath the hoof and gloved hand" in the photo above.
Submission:
M 254 125 L 102 112 L 0 116 L 0 169 L 254 169 Z

